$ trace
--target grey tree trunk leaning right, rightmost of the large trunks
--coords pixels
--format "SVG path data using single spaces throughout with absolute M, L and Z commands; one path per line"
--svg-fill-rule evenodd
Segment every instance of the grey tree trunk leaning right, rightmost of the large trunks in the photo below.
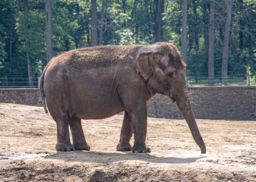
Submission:
M 232 17 L 232 0 L 227 0 L 226 5 L 226 22 L 225 22 L 225 33 L 224 33 L 224 44 L 223 44 L 223 58 L 221 67 L 221 82 L 227 84 L 228 74 L 228 58 L 229 58 L 229 36 L 230 36 L 230 24 Z

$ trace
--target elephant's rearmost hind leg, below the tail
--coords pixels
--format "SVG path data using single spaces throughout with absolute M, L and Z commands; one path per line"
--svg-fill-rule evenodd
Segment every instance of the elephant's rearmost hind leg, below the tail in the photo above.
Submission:
M 57 119 L 57 144 L 56 150 L 58 151 L 71 151 L 74 150 L 74 146 L 70 143 L 68 120 L 65 118 Z

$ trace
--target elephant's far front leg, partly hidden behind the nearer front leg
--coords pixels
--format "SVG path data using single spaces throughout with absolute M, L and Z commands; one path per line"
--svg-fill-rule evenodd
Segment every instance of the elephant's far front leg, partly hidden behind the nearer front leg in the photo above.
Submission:
M 116 150 L 118 151 L 130 151 L 131 145 L 129 141 L 131 140 L 131 136 L 133 133 L 132 123 L 131 123 L 131 115 L 125 111 L 124 120 L 122 121 L 122 129 L 120 133 L 119 144 L 116 146 Z

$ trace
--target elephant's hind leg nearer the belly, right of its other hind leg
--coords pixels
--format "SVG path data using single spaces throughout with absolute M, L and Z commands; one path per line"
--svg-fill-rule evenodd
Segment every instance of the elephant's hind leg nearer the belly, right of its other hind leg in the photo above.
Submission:
M 74 148 L 76 150 L 90 150 L 90 146 L 87 144 L 84 138 L 81 119 L 73 116 L 70 119 L 69 126 L 71 128 Z

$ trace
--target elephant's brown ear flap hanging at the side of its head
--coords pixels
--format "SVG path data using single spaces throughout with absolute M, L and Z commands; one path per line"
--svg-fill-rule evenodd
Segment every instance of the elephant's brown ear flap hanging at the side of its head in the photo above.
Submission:
M 152 68 L 150 66 L 150 56 L 153 55 L 153 52 L 141 52 L 135 62 L 134 69 L 138 74 L 141 74 L 141 77 L 147 81 L 152 75 Z

